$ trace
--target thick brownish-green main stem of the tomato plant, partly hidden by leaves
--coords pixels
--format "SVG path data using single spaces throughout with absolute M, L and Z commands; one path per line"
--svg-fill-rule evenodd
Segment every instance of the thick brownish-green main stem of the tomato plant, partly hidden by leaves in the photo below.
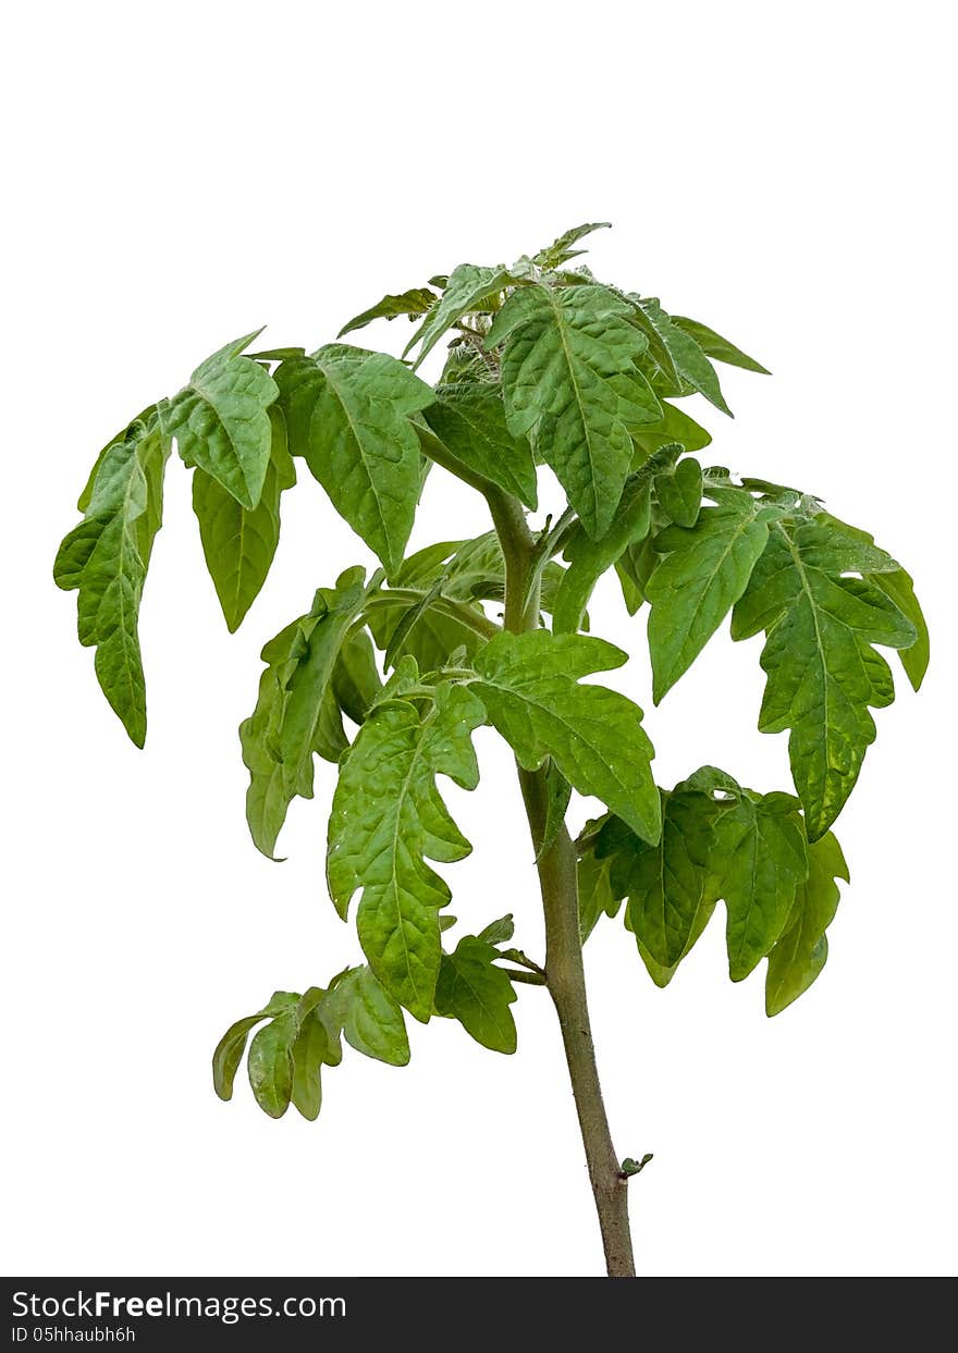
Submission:
M 511 633 L 522 633 L 539 624 L 539 587 L 533 586 L 532 594 L 526 595 L 536 543 L 516 499 L 497 491 L 490 491 L 486 497 L 506 560 L 505 628 Z M 635 1277 L 628 1180 L 612 1145 L 589 1024 L 575 846 L 563 825 L 548 850 L 540 852 L 548 817 L 545 770 L 528 771 L 520 766 L 518 775 L 539 855 L 539 886 L 545 912 L 545 982 L 559 1016 L 606 1268 L 609 1277 Z

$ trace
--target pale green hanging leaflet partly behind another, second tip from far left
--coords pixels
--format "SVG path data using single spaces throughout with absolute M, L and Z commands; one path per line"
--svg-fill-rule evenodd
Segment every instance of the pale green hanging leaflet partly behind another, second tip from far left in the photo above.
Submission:
M 286 423 L 275 406 L 268 410 L 272 448 L 260 501 L 244 507 L 206 471 L 193 471 L 193 511 L 199 520 L 203 556 L 233 633 L 260 595 L 276 553 L 280 497 L 296 483 L 286 445 Z

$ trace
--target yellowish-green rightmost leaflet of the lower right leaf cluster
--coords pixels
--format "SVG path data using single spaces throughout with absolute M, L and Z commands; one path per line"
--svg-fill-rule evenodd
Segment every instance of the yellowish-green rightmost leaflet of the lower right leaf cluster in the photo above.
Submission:
M 828 958 L 825 930 L 839 904 L 836 878 L 848 881 L 848 866 L 832 832 L 808 847 L 808 878 L 798 888 L 789 924 L 769 954 L 765 978 L 766 1015 L 779 1015 L 806 992 Z

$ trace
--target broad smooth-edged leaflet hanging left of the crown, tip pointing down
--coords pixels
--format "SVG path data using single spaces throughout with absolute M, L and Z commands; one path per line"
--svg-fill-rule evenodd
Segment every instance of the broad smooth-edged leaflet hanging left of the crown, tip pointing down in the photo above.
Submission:
M 276 383 L 291 452 L 392 574 L 421 490 L 419 438 L 410 418 L 433 391 L 395 357 L 345 344 L 287 359 Z

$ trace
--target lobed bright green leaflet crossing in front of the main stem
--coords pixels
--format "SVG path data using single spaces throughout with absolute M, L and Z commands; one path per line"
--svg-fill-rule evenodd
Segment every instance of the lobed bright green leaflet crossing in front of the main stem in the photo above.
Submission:
M 526 770 L 551 756 L 579 793 L 595 794 L 645 840 L 658 840 L 659 792 L 641 710 L 618 691 L 578 683 L 624 662 L 601 639 L 502 633 L 476 655 L 480 681 L 472 689 Z

